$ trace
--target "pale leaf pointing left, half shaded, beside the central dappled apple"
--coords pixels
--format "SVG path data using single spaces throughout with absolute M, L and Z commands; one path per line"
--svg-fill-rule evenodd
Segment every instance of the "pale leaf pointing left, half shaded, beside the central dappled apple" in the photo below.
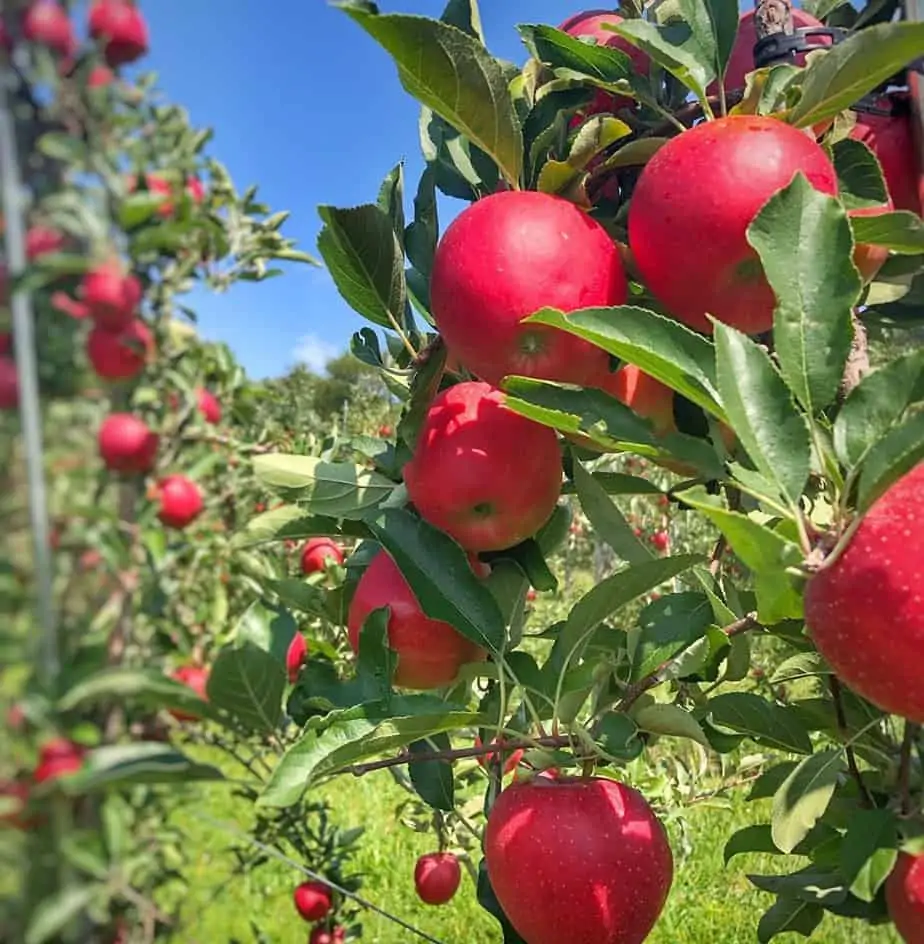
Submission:
M 284 491 L 310 514 L 328 518 L 362 518 L 396 488 L 378 472 L 315 456 L 267 453 L 254 457 L 253 468 L 264 485 Z

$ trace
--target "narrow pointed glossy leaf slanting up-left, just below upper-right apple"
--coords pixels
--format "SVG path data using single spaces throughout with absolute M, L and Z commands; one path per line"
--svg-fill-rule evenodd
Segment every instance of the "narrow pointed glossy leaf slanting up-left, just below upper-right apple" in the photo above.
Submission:
M 758 471 L 796 505 L 811 467 L 805 417 L 763 348 L 721 322 L 715 322 L 715 341 L 719 390 L 731 426 Z

